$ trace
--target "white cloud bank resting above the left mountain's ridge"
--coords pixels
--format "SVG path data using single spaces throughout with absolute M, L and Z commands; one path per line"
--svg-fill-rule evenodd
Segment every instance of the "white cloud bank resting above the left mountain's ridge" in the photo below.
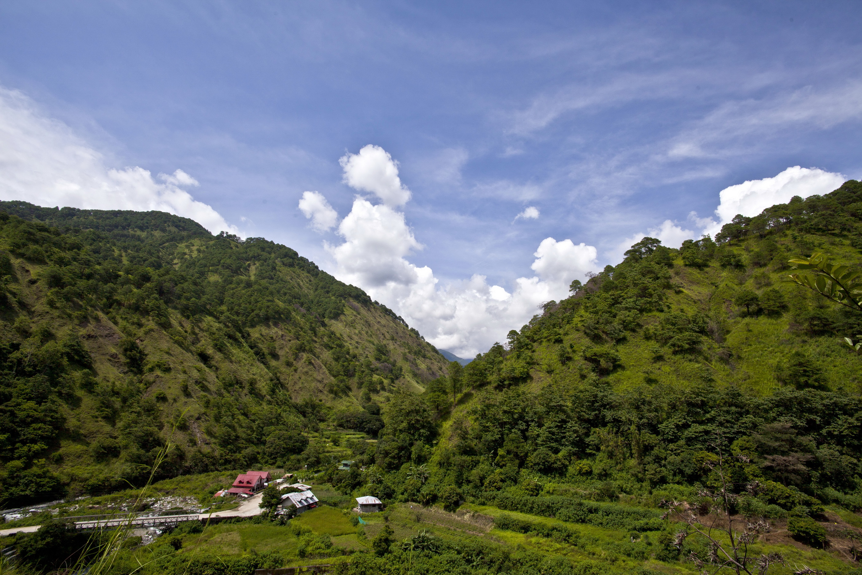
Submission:
M 138 166 L 106 166 L 103 155 L 66 124 L 42 114 L 21 92 L 0 88 L 0 199 L 47 207 L 159 210 L 191 218 L 214 234 L 240 234 L 183 189 L 197 186 L 195 178 L 177 170 L 158 179 Z

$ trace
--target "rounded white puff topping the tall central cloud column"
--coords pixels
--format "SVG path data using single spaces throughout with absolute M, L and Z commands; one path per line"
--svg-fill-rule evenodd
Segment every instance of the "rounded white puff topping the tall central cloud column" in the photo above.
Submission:
M 344 168 L 344 183 L 354 190 L 370 191 L 390 207 L 410 199 L 410 191 L 398 178 L 398 162 L 382 147 L 369 144 L 359 153 L 345 154 L 339 163 Z

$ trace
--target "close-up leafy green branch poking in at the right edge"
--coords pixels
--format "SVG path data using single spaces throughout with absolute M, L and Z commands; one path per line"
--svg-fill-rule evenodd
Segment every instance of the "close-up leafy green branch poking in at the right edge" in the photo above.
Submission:
M 790 259 L 790 263 L 794 264 L 790 271 L 808 272 L 791 273 L 791 281 L 862 312 L 862 271 L 833 264 L 828 253 L 812 253 L 810 258 L 799 256 Z

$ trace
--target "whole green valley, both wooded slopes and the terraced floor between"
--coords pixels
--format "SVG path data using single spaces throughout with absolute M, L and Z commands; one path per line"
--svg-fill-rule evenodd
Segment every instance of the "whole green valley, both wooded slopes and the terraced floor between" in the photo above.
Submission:
M 75 560 L 859 572 L 862 359 L 844 338 L 862 312 L 789 274 L 815 253 L 862 269 L 860 206 L 850 180 L 678 249 L 644 238 L 464 365 L 288 247 L 159 212 L 0 203 L 0 495 L 61 502 L 6 531 L 59 526 L 72 546 L 84 535 L 63 520 L 87 513 L 223 515 L 235 502 L 215 493 L 265 470 L 320 504 L 184 522 L 146 545 L 86 535 L 102 547 Z M 360 515 L 356 497 L 384 510 Z M 47 531 L 5 541 L 19 565 L 59 567 L 27 559 Z

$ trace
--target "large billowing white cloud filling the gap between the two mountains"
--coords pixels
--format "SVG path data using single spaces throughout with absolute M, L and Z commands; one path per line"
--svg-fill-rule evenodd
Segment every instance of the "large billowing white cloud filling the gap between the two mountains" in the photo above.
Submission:
M 407 259 L 422 244 L 396 209 L 409 199 L 409 191 L 406 197 L 397 196 L 406 188 L 397 178 L 395 160 L 383 148 L 366 146 L 359 154 L 348 153 L 341 166 L 347 184 L 372 191 L 383 203 L 354 199 L 353 209 L 338 227 L 344 241 L 325 244 L 335 262 L 334 275 L 394 309 L 436 347 L 462 357 L 484 352 L 494 341 L 502 341 L 509 329 L 528 322 L 541 303 L 567 297 L 572 279 L 584 279 L 597 267 L 595 247 L 547 238 L 534 253 L 534 277 L 517 278 L 511 292 L 489 285 L 481 274 L 440 284 L 430 267 Z M 306 217 L 313 214 L 309 210 Z

